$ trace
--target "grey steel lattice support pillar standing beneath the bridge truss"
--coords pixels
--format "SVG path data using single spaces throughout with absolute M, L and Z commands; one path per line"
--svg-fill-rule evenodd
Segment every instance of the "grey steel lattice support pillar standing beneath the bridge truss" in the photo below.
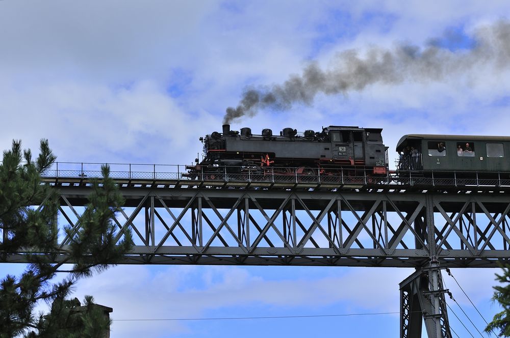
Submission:
M 399 284 L 400 338 L 421 338 L 423 322 L 428 338 L 451 338 L 441 269 L 432 257 Z

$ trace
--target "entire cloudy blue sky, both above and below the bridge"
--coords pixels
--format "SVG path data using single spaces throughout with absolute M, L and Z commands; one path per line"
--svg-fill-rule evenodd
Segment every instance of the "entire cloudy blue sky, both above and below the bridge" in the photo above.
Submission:
M 246 86 L 283 83 L 310 61 L 327 68 L 346 50 L 364 55 L 374 47 L 433 44 L 455 57 L 509 11 L 505 1 L 2 1 L 0 146 L 16 138 L 35 150 L 44 137 L 59 161 L 189 163 L 201 151 L 198 137 L 221 128 L 225 108 Z M 505 64 L 488 59 L 438 81 L 318 94 L 311 105 L 261 110 L 233 128 L 384 128 L 390 150 L 406 133 L 507 135 L 508 75 Z M 3 273 L 19 269 L 0 266 Z M 454 271 L 487 318 L 497 311 L 490 301 L 494 272 Z M 398 283 L 411 273 L 119 266 L 83 280 L 77 296 L 94 295 L 114 307 L 117 319 L 393 312 Z M 397 336 L 397 315 L 368 320 L 115 322 L 112 337 Z

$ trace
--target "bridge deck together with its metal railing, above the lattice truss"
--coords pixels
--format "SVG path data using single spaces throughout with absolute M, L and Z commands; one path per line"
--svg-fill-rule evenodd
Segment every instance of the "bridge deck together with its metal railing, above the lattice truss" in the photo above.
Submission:
M 390 191 L 510 191 L 509 173 L 476 172 L 391 172 L 387 176 L 374 176 L 358 171 L 356 176 L 303 175 L 299 168 L 243 168 L 243 173 L 194 174 L 190 178 L 185 165 L 111 164 L 110 177 L 122 187 L 165 188 L 239 188 L 239 189 L 316 189 L 316 190 L 384 190 Z M 119 168 L 120 166 L 120 168 Z M 57 163 L 43 174 L 43 181 L 58 186 L 87 186 L 101 178 L 98 163 Z

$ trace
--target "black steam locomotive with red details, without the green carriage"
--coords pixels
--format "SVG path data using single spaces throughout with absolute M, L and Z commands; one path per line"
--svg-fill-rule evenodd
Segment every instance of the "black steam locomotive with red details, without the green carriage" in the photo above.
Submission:
M 388 147 L 382 143 L 382 129 L 354 126 L 329 126 L 321 131 L 284 128 L 279 135 L 271 129 L 253 134 L 250 128 L 240 131 L 223 125 L 217 131 L 200 137 L 203 159 L 187 166 L 188 177 L 198 173 L 215 174 L 271 171 L 275 174 L 386 176 Z

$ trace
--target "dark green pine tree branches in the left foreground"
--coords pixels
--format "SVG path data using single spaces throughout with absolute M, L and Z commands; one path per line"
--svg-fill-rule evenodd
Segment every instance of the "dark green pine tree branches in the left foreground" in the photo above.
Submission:
M 49 150 L 47 140 L 41 140 L 41 152 L 36 162 L 32 161 L 30 151 L 24 151 L 23 155 L 27 163 L 21 166 L 21 143 L 14 141 L 12 150 L 4 152 L 0 164 L 0 191 L 3 193 L 0 195 L 0 229 L 8 233 L 8 240 L 0 246 L 2 252 L 28 250 L 46 252 L 47 255 L 28 253 L 26 257 L 31 264 L 27 271 L 18 279 L 8 275 L 0 281 L 0 336 L 4 336 L 4 332 L 7 336 L 24 334 L 27 337 L 77 337 L 85 332 L 89 332 L 88 336 L 98 336 L 100 331 L 97 330 L 104 330 L 108 322 L 94 315 L 89 307 L 92 298 L 86 299 L 86 312 L 78 313 L 73 312 L 77 305 L 65 297 L 80 277 L 116 264 L 122 254 L 131 249 L 133 240 L 129 229 L 119 243 L 113 240 L 116 228 L 112 225 L 112 217 L 119 208 L 111 206 L 122 205 L 122 196 L 109 178 L 109 167 L 101 167 L 102 186 L 99 187 L 98 180 L 94 181 L 89 203 L 79 218 L 80 229 L 69 230 L 70 243 L 63 250 L 56 244 L 53 228 L 59 199 L 55 191 L 40 185 L 40 174 L 56 157 Z M 32 205 L 41 208 L 27 208 Z M 57 264 L 52 263 L 53 255 L 62 252 L 67 257 Z M 74 263 L 71 269 L 63 268 L 71 262 Z M 52 284 L 57 273 L 69 275 Z M 33 311 L 41 300 L 53 301 L 52 310 L 47 315 L 39 315 L 37 320 Z

